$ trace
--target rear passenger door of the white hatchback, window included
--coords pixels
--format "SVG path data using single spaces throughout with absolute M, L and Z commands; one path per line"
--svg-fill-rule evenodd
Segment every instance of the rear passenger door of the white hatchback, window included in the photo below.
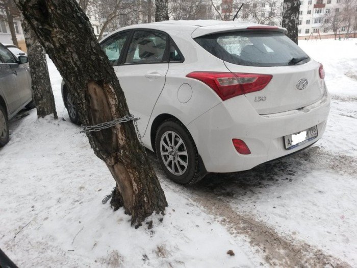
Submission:
M 130 112 L 140 117 L 143 136 L 156 101 L 165 85 L 169 67 L 168 35 L 154 30 L 135 30 L 116 74 Z

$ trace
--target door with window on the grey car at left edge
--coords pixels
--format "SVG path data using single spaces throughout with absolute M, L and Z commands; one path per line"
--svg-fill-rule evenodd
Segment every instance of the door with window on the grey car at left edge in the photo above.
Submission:
M 18 64 L 5 46 L 0 44 L 0 89 L 3 91 L 10 113 L 21 106 L 21 98 L 16 84 Z

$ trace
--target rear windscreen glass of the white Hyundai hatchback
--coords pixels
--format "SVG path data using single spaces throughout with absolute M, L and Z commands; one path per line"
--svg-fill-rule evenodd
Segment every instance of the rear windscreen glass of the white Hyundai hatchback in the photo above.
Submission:
M 200 36 L 195 41 L 224 61 L 246 66 L 286 66 L 310 61 L 285 34 L 273 31 L 243 31 Z

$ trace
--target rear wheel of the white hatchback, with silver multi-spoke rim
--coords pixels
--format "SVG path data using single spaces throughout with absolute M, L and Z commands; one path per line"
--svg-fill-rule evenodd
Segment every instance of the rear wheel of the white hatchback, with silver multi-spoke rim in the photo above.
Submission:
M 155 148 L 162 169 L 172 181 L 189 185 L 204 177 L 195 142 L 180 121 L 168 119 L 160 125 Z

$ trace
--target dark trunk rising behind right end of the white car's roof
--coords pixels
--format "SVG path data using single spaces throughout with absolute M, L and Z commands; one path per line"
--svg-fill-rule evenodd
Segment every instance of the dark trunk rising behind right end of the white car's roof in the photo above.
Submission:
M 282 27 L 288 30 L 287 36 L 297 44 L 299 26 L 299 0 L 284 0 Z

